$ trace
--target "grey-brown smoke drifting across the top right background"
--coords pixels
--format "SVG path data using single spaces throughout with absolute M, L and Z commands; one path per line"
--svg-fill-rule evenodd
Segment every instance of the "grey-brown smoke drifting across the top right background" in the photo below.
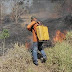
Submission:
M 66 16 L 72 13 L 72 0 L 33 0 L 31 13 L 38 12 L 44 12 L 39 17 L 57 18 Z

